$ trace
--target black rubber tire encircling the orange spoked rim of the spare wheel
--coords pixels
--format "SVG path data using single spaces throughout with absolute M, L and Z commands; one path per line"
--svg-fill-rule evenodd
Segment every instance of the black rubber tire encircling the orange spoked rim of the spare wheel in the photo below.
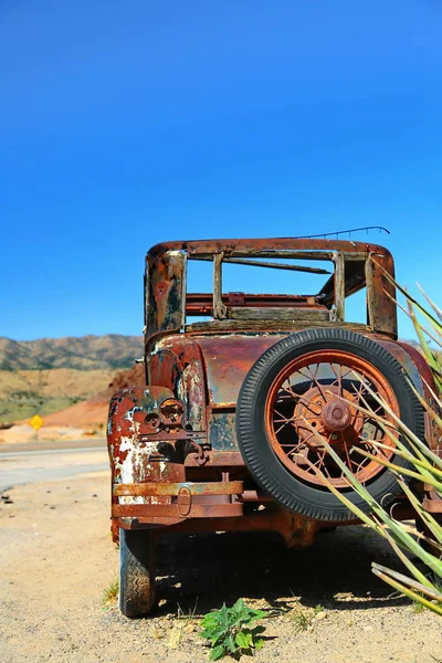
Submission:
M 265 430 L 266 397 L 276 376 L 292 360 L 315 350 L 341 350 L 370 362 L 393 390 L 402 421 L 420 439 L 424 439 L 422 407 L 399 361 L 366 336 L 340 328 L 306 329 L 294 334 L 276 343 L 257 359 L 239 394 L 236 436 L 252 476 L 282 506 L 318 520 L 351 520 L 355 516 L 325 486 L 303 482 L 283 465 L 272 449 Z M 409 466 L 398 455 L 393 455 L 392 461 L 399 466 Z M 383 506 L 400 493 L 397 481 L 387 470 L 367 483 L 366 487 Z M 356 506 L 369 513 L 368 504 L 355 491 L 349 488 L 345 493 Z

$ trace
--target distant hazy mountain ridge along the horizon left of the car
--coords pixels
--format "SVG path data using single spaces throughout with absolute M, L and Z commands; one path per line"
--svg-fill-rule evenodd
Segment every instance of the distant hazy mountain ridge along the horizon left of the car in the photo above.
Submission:
M 107 334 L 38 340 L 0 337 L 0 370 L 124 369 L 141 356 L 141 336 Z

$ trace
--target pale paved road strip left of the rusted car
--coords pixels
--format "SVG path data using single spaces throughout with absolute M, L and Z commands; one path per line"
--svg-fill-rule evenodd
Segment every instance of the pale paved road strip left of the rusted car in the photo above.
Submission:
M 0 493 L 17 485 L 108 469 L 104 440 L 29 442 L 0 446 Z

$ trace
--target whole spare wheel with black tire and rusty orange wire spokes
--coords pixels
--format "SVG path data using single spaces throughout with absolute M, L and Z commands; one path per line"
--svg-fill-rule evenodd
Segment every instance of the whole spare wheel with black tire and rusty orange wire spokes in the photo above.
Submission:
M 391 421 L 370 390 L 423 439 L 422 407 L 404 369 L 370 338 L 341 328 L 306 329 L 269 348 L 249 371 L 236 406 L 240 450 L 257 484 L 291 512 L 319 520 L 354 519 L 316 467 L 368 513 L 318 432 L 372 497 L 390 504 L 400 493 L 394 476 L 357 450 L 373 452 L 370 440 L 381 441 L 389 445 L 388 460 L 401 467 L 409 463 L 377 420 L 355 407 Z

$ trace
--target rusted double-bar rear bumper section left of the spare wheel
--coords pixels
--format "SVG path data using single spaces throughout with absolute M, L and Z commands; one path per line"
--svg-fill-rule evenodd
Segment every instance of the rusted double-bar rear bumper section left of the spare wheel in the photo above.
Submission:
M 115 484 L 113 518 L 139 524 L 167 525 L 185 518 L 225 518 L 242 516 L 242 481 Z

